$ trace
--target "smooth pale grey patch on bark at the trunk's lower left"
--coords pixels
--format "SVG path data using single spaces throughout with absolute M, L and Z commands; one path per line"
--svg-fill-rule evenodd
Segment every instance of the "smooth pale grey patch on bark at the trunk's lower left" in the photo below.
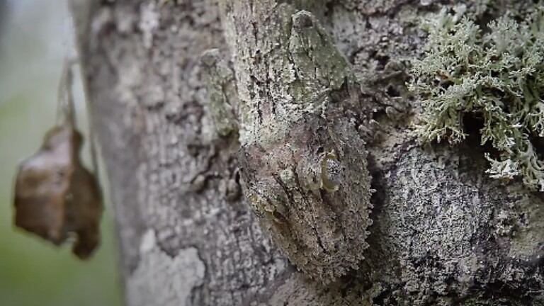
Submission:
M 140 263 L 128 277 L 128 304 L 191 305 L 191 291 L 203 284 L 204 273 L 198 249 L 188 247 L 170 257 L 149 229 L 140 244 Z

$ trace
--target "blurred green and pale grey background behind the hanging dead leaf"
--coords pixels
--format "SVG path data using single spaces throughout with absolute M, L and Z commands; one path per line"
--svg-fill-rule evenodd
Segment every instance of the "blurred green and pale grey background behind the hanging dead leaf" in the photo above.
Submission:
M 111 203 L 89 261 L 13 228 L 13 176 L 55 122 L 62 61 L 73 54 L 72 21 L 66 0 L 0 0 L 0 11 L 0 306 L 121 305 Z M 79 80 L 74 91 L 86 131 Z M 88 148 L 85 154 L 88 161 Z

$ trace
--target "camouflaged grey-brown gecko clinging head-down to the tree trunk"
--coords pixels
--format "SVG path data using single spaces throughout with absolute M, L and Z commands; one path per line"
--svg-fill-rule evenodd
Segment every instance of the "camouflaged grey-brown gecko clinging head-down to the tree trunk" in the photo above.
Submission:
M 311 13 L 280 5 L 270 23 L 271 47 L 238 54 L 236 78 L 217 50 L 204 53 L 208 108 L 220 135 L 239 125 L 242 188 L 261 226 L 297 268 L 329 283 L 358 268 L 372 223 L 365 143 L 346 115 L 360 89 Z

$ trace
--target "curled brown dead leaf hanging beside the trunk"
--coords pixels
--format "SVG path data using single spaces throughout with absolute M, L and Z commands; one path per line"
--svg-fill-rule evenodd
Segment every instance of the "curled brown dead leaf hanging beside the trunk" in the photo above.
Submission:
M 65 64 L 61 79 L 60 122 L 47 132 L 38 152 L 19 165 L 14 222 L 55 245 L 75 235 L 72 252 L 86 259 L 99 243 L 103 206 L 97 178 L 79 158 L 83 137 L 75 128 L 72 64 Z

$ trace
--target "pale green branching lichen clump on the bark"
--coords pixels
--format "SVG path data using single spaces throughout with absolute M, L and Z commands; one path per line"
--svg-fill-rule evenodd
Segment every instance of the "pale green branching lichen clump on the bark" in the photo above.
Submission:
M 409 84 L 421 98 L 421 142 L 465 140 L 470 115 L 482 122 L 481 145 L 497 149 L 485 154 L 487 173 L 544 191 L 544 164 L 533 146 L 544 137 L 544 9 L 485 29 L 442 11 L 424 28 L 425 56 L 414 60 Z

